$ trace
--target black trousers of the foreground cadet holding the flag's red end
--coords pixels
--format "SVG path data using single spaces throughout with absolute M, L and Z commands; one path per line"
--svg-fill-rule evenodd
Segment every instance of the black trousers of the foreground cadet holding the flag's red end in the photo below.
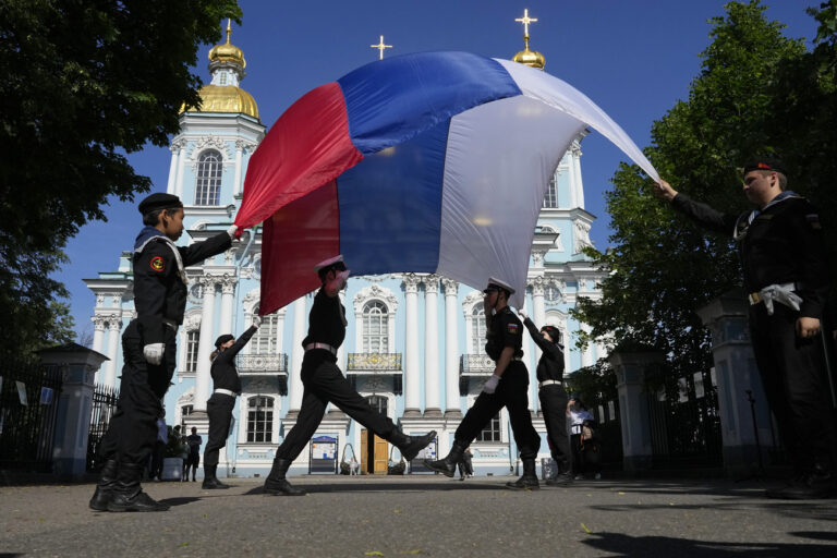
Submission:
M 122 380 L 117 412 L 102 438 L 99 458 L 116 458 L 121 463 L 145 463 L 157 439 L 157 417 L 162 398 L 174 375 L 177 345 L 174 329 L 166 327 L 162 363 L 154 365 L 143 355 L 138 322 L 132 320 L 122 333 Z

